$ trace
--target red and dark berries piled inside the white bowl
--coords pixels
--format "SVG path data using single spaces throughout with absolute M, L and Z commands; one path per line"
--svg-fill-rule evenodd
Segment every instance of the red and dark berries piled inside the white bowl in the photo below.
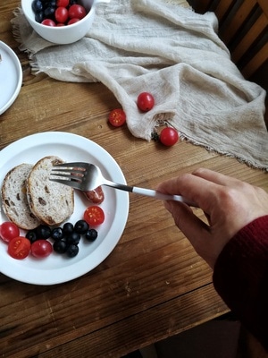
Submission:
M 87 15 L 77 0 L 34 0 L 35 20 L 47 26 L 65 26 L 80 21 Z

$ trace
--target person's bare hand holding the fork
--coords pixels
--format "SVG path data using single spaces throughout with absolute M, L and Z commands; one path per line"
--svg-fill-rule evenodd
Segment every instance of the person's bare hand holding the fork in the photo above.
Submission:
M 180 194 L 203 209 L 207 223 L 188 205 L 164 201 L 176 226 L 212 268 L 225 244 L 242 227 L 268 214 L 267 192 L 209 169 L 167 180 L 158 185 L 157 191 Z

